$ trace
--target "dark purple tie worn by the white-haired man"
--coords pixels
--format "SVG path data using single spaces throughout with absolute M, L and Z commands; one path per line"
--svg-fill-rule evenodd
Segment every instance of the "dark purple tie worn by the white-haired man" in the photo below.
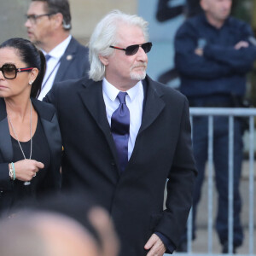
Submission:
M 111 132 L 113 140 L 117 149 L 119 157 L 119 166 L 121 172 L 125 171 L 125 167 L 128 163 L 128 140 L 130 131 L 130 111 L 126 106 L 125 96 L 126 92 L 120 91 L 118 99 L 120 102 L 119 108 L 117 108 L 111 117 Z

